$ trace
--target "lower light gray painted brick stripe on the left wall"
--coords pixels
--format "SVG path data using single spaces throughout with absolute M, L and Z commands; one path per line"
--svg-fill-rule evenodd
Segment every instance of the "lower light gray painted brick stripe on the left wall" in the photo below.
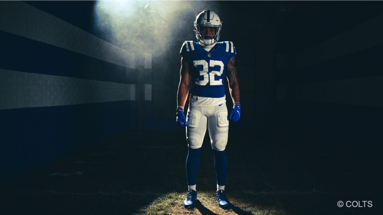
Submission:
M 134 84 L 0 69 L 0 109 L 134 101 L 135 96 Z

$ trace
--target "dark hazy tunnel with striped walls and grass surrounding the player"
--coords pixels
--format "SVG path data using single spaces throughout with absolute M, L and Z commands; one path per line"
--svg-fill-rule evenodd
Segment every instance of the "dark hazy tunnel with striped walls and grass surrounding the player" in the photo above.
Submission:
M 180 49 L 203 10 L 238 53 L 229 210 L 208 132 L 182 206 Z M 1 1 L 3 214 L 381 213 L 382 26 L 381 1 Z

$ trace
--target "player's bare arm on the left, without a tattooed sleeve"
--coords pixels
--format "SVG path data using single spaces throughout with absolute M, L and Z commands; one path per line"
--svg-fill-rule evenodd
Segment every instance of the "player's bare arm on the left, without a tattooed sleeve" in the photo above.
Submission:
M 181 58 L 181 71 L 180 71 L 180 84 L 178 85 L 177 92 L 177 106 L 185 106 L 189 94 L 189 64 L 187 59 Z

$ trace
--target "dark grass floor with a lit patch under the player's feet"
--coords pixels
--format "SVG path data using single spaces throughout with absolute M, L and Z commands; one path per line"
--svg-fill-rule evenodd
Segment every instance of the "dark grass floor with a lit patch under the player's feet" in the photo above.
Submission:
M 213 193 L 208 134 L 200 154 L 196 207 L 183 207 L 187 145 L 184 130 L 178 130 L 121 134 L 13 179 L 1 188 L 2 214 L 377 214 L 377 205 L 337 207 L 339 200 L 376 200 L 375 195 L 349 189 L 355 180 L 340 183 L 347 174 L 334 178 L 331 170 L 321 170 L 328 169 L 321 168 L 322 162 L 281 146 L 291 140 L 271 137 L 250 130 L 229 134 L 228 210 L 218 207 Z

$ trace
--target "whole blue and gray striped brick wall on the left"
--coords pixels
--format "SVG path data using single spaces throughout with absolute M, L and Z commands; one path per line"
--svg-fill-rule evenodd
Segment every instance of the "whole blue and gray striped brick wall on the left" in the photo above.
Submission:
M 0 38 L 0 181 L 137 127 L 136 53 L 22 1 Z

